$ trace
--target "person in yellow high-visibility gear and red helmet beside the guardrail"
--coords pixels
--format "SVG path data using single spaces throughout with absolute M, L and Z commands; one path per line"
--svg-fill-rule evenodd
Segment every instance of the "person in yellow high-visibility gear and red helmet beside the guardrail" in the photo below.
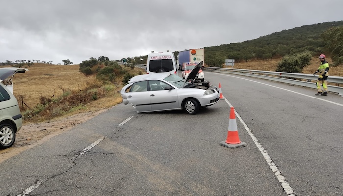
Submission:
M 319 59 L 321 61 L 320 66 L 313 75 L 319 73 L 316 85 L 317 85 L 317 93 L 315 95 L 323 95 L 327 96 L 327 77 L 329 76 L 329 63 L 325 60 L 325 55 L 320 54 Z M 323 90 L 321 89 L 320 83 L 323 85 Z

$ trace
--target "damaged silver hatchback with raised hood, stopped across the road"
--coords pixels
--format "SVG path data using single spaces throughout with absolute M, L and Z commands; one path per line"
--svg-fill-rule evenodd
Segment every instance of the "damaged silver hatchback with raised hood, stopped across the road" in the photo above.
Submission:
M 137 75 L 120 91 L 125 105 L 131 104 L 137 112 L 184 110 L 196 114 L 201 107 L 219 101 L 220 92 L 209 82 L 195 83 L 202 62 L 186 79 L 175 74 Z

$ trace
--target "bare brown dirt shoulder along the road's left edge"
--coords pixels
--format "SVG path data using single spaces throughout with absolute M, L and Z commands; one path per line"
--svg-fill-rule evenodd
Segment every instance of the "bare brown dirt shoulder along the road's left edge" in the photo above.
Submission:
M 62 117 L 40 123 L 27 123 L 16 134 L 16 140 L 12 147 L 0 150 L 0 163 L 27 149 L 46 142 L 49 138 L 64 131 L 70 130 L 77 124 L 83 123 L 102 112 L 109 110 L 88 111 L 73 116 Z

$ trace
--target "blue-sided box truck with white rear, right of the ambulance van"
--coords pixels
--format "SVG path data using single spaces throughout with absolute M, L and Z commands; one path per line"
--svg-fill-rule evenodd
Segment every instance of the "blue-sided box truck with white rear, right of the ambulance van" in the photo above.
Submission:
M 177 69 L 182 70 L 183 63 L 200 63 L 204 61 L 204 49 L 186 49 L 179 51 L 177 55 Z

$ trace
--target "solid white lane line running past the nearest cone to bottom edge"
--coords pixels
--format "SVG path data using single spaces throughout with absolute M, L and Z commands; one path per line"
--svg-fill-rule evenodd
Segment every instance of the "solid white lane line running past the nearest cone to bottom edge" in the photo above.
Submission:
M 229 104 L 230 107 L 233 107 L 231 105 L 231 103 L 225 97 L 223 97 L 223 98 L 225 99 L 227 104 Z M 257 148 L 260 150 L 261 154 L 263 155 L 263 157 L 265 158 L 266 162 L 268 163 L 271 171 L 274 172 L 274 175 L 276 176 L 277 180 L 280 182 L 283 190 L 286 192 L 286 194 L 288 196 L 294 196 L 294 191 L 293 191 L 292 187 L 288 184 L 288 182 L 286 181 L 286 178 L 283 175 L 281 175 L 281 172 L 279 171 L 278 167 L 275 165 L 275 163 L 271 159 L 271 157 L 268 155 L 268 153 L 265 150 L 265 148 L 260 144 L 260 142 L 257 140 L 255 135 L 251 132 L 249 127 L 245 124 L 245 122 L 243 121 L 242 117 L 236 112 L 236 110 L 235 110 L 235 114 L 236 114 L 236 117 L 243 124 L 246 132 L 248 132 L 248 134 L 250 135 L 251 139 L 254 141 L 254 143 L 257 146 Z

